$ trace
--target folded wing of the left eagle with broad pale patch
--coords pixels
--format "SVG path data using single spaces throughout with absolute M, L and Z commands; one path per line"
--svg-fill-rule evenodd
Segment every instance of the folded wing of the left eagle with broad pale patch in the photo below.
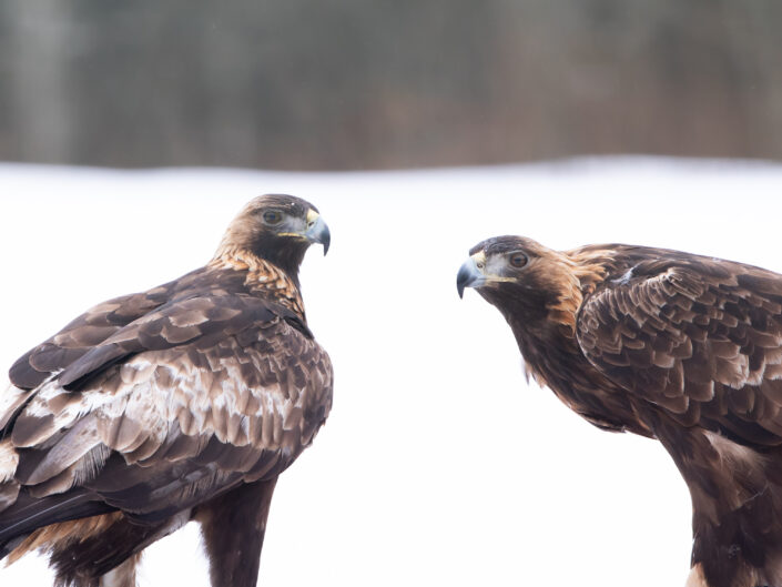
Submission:
M 10 442 L 19 459 L 10 483 L 27 488 L 27 502 L 52 496 L 58 506 L 49 519 L 34 504 L 11 505 L 0 513 L 0 526 L 12 520 L 0 543 L 9 526 L 18 534 L 67 518 L 69 504 L 83 515 L 84 499 L 100 504 L 97 513 L 109 506 L 155 520 L 272 478 L 312 442 L 331 407 L 325 351 L 296 314 L 254 296 L 166 302 L 78 348 L 12 417 L 0 414 L 0 448 Z M 58 368 L 39 363 L 40 353 L 18 364 Z

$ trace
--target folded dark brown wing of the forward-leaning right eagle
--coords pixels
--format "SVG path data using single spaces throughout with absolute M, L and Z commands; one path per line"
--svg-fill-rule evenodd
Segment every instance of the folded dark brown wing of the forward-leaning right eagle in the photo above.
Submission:
M 590 363 L 683 425 L 782 444 L 782 276 L 728 261 L 646 260 L 589 296 Z

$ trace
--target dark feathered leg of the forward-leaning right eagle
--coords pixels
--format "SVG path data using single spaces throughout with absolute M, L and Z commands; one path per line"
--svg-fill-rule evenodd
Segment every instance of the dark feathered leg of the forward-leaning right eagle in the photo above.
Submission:
M 687 587 L 782 587 L 782 467 L 775 455 L 667 418 L 652 429 L 692 497 Z

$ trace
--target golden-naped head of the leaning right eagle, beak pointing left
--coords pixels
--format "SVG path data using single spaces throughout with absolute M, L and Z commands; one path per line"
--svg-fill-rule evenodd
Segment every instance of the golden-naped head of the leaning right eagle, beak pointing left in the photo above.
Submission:
M 526 327 L 550 320 L 575 330 L 583 295 L 577 264 L 565 253 L 525 236 L 478 243 L 456 277 L 459 296 L 475 287 L 505 316 Z

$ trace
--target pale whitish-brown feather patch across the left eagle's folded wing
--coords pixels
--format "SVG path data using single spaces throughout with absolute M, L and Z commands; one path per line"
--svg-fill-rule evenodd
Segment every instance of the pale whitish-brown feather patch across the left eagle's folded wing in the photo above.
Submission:
M 14 425 L 14 446 L 48 449 L 22 480 L 37 495 L 59 493 L 94 478 L 109 449 L 143 465 L 193 457 L 212 436 L 251 448 L 234 470 L 250 470 L 272 452 L 295 457 L 322 423 L 306 414 L 325 418 L 331 406 L 331 364 L 314 341 L 286 323 L 276 327 L 282 336 L 262 351 L 231 337 L 201 358 L 189 346 L 148 351 L 80 392 L 44 384 Z

